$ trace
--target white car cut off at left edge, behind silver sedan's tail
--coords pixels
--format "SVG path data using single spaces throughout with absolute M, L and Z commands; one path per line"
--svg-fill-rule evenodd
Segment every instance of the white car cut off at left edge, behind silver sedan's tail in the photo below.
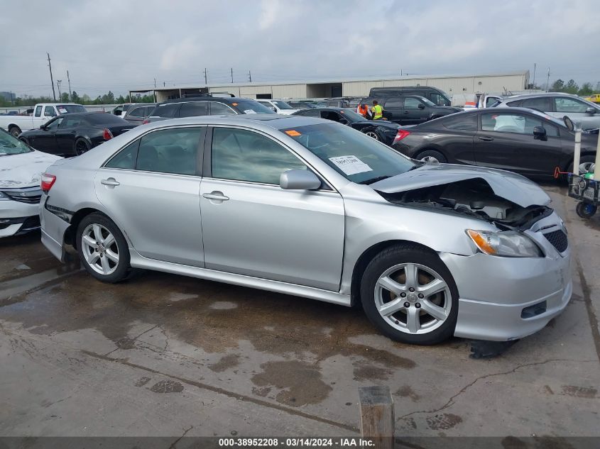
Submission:
M 0 238 L 40 227 L 40 178 L 59 159 L 0 130 Z

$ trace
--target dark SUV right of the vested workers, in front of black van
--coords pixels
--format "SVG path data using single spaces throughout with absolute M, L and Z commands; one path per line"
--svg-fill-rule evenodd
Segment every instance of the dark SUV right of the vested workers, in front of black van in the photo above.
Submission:
M 383 106 L 383 117 L 399 125 L 418 125 L 426 121 L 462 112 L 460 108 L 437 106 L 424 96 L 376 96 L 363 99 L 361 104 L 372 106 L 373 100 Z

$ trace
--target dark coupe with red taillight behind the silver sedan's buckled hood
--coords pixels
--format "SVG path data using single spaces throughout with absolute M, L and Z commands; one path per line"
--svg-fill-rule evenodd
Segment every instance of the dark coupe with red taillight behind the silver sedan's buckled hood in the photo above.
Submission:
M 529 177 L 573 170 L 574 132 L 525 108 L 481 109 L 404 126 L 393 148 L 420 160 L 479 165 Z M 582 135 L 581 163 L 594 162 L 597 134 Z

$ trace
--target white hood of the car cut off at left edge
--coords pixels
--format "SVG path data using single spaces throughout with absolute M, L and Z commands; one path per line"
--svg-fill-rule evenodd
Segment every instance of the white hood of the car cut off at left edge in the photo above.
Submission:
M 40 177 L 60 156 L 40 151 L 0 156 L 0 188 L 20 189 L 40 184 Z

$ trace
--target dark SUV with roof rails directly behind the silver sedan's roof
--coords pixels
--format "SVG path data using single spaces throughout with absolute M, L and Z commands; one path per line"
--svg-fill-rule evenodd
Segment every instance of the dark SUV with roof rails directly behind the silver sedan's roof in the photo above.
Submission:
M 144 123 L 168 118 L 195 116 L 234 116 L 242 113 L 274 113 L 266 106 L 247 98 L 195 96 L 167 100 L 158 104 Z

